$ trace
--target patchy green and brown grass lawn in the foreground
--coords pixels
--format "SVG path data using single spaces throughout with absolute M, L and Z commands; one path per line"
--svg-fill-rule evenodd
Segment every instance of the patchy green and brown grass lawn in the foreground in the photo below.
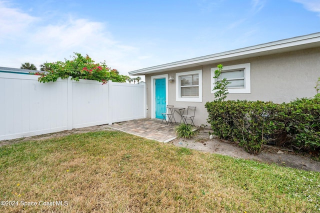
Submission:
M 319 179 L 99 131 L 0 147 L 0 212 L 316 212 Z

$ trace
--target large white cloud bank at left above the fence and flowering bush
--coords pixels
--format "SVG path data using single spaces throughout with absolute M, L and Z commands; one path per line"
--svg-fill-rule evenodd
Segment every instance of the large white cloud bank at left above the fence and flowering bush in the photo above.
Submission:
M 43 62 L 64 61 L 78 52 L 95 62 L 106 60 L 108 66 L 127 74 L 147 58 L 145 53 L 140 57 L 136 47 L 113 38 L 104 22 L 69 17 L 40 25 L 37 20 L 41 18 L 7 8 L 0 1 L 0 66 L 18 68 L 30 62 L 39 68 Z M 132 60 L 139 57 L 141 60 Z

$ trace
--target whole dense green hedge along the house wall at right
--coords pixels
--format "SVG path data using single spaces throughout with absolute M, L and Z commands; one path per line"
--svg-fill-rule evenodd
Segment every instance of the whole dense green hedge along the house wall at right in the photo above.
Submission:
M 208 123 L 220 138 L 257 154 L 263 143 L 292 144 L 301 150 L 320 147 L 320 94 L 289 103 L 227 100 L 206 102 Z

